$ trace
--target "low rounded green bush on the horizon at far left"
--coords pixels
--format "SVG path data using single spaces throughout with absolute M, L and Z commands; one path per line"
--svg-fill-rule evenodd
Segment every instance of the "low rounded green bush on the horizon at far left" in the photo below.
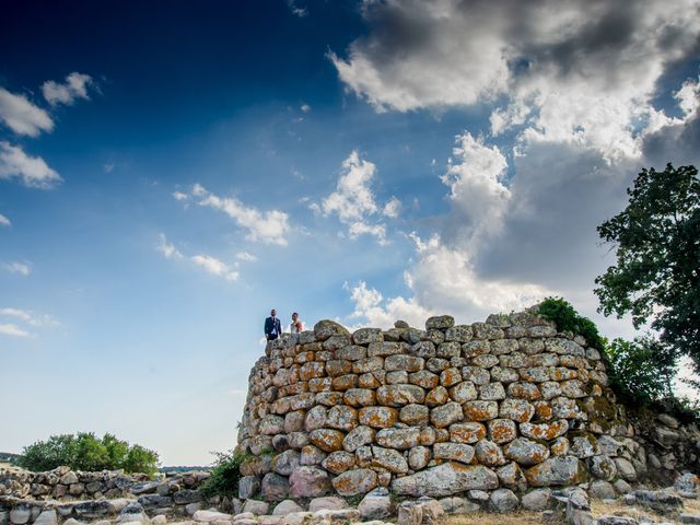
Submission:
M 102 440 L 92 432 L 51 435 L 24 447 L 18 464 L 35 472 L 66 465 L 73 470 L 116 470 L 153 475 L 159 457 L 140 445 L 129 446 L 112 434 Z

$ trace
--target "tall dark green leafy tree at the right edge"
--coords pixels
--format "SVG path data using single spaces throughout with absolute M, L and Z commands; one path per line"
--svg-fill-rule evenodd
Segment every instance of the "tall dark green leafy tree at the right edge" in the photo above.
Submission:
M 595 280 L 599 312 L 651 320 L 700 370 L 700 180 L 695 166 L 642 170 L 627 208 L 597 228 L 617 264 Z

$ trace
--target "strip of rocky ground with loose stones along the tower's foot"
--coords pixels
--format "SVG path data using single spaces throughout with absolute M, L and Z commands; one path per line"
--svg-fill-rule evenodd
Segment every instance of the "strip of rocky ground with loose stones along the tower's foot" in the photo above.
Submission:
M 232 500 L 230 512 L 215 508 L 202 509 L 200 503 L 187 505 L 186 514 L 173 515 L 159 510 L 147 511 L 137 499 L 73 502 L 74 506 L 109 505 L 102 520 L 91 520 L 82 512 L 81 520 L 63 520 L 60 506 L 43 509 L 15 506 L 0 511 L 0 525 L 646 525 L 700 524 L 698 477 L 685 475 L 674 487 L 649 490 L 639 487 L 622 498 L 588 500 L 581 487 L 562 490 L 542 489 L 537 497 L 522 502 L 509 498 L 506 491 L 490 494 L 470 491 L 468 498 L 450 497 L 441 500 L 419 498 L 398 500 L 386 489 L 377 488 L 360 501 L 338 497 L 312 500 L 284 500 L 268 503 L 247 500 L 244 504 Z M 495 494 L 495 495 L 494 495 Z M 475 503 L 482 500 L 481 504 Z M 84 510 L 83 510 L 84 511 Z M 37 514 L 38 513 L 38 514 Z M 108 518 L 105 516 L 108 514 Z

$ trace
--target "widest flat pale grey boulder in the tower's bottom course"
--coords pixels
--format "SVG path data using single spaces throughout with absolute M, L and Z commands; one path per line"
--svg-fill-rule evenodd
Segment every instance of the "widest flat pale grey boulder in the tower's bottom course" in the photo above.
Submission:
M 420 472 L 397 478 L 392 491 L 399 495 L 452 495 L 466 490 L 491 490 L 499 485 L 495 472 L 482 465 L 444 463 Z

